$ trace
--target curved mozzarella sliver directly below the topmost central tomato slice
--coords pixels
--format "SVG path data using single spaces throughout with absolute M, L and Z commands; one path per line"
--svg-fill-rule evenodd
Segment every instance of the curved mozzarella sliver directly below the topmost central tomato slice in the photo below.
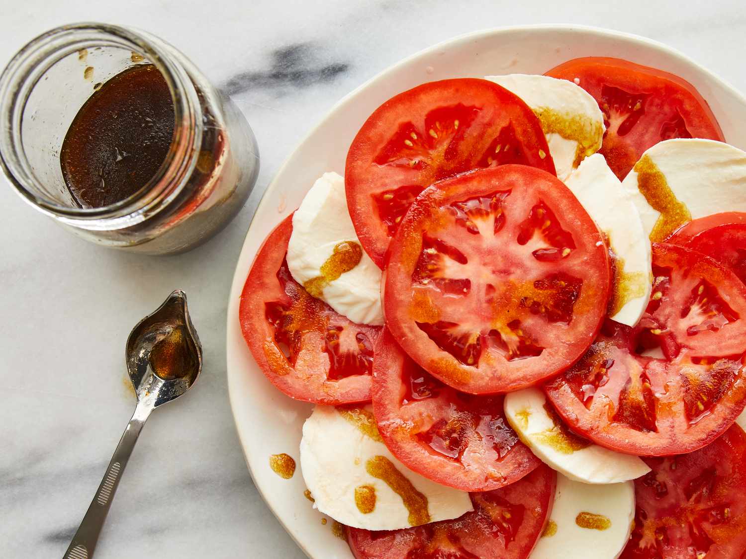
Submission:
M 504 408 L 508 423 L 531 452 L 574 481 L 613 484 L 651 470 L 637 456 L 614 452 L 574 435 L 538 388 L 506 394 Z

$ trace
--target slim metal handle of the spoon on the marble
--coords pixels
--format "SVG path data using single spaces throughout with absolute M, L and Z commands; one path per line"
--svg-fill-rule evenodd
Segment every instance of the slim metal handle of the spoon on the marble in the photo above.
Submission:
M 140 405 L 140 403 L 135 408 L 132 419 L 119 440 L 114 455 L 111 457 L 104 479 L 101 480 L 86 516 L 83 517 L 78 531 L 72 537 L 72 542 L 70 542 L 63 559 L 90 559 L 93 557 L 93 549 L 98 542 L 101 528 L 104 527 L 106 515 L 109 512 L 114 493 L 116 493 L 116 487 L 119 486 L 119 479 L 122 478 L 132 449 L 137 443 L 137 436 L 140 435 L 142 426 L 145 425 L 145 420 L 148 419 L 151 411 L 153 411 L 151 406 Z

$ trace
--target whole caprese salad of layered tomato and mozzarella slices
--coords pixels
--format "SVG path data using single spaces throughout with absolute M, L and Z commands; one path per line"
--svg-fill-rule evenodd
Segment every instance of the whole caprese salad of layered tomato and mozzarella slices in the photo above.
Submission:
M 694 86 L 423 83 L 336 171 L 239 318 L 354 557 L 746 556 L 746 153 Z

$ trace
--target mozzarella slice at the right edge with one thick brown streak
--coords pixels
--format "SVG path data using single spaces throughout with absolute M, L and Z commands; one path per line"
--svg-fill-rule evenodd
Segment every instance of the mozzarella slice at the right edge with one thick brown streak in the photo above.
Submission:
M 662 241 L 690 219 L 746 211 L 746 153 L 715 140 L 665 140 L 642 154 L 622 186 L 645 235 Z

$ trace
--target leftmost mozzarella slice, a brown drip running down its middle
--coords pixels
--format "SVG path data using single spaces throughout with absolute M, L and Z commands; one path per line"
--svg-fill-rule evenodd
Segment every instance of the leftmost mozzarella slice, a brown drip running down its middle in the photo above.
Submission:
M 345 180 L 325 173 L 292 215 L 287 267 L 296 282 L 358 324 L 383 324 L 380 269 L 357 240 Z

